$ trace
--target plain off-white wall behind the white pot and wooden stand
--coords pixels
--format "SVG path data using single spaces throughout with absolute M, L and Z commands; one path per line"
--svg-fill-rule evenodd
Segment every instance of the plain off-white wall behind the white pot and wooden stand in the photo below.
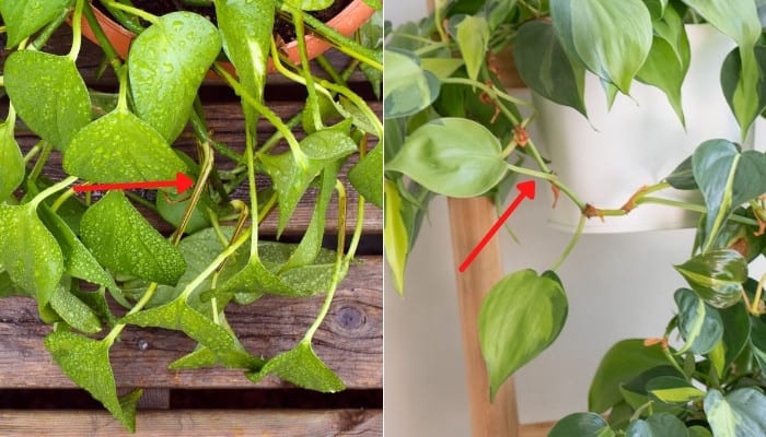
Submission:
M 386 20 L 395 24 L 415 20 L 423 10 L 419 1 L 385 2 Z M 567 245 L 568 234 L 546 226 L 548 208 L 539 196 L 513 215 L 510 225 L 523 238 L 521 245 L 500 235 L 507 272 L 548 269 Z M 388 436 L 469 435 L 444 199 L 431 204 L 429 221 L 409 259 L 406 296 L 399 297 L 386 280 Z M 674 308 L 673 292 L 684 285 L 672 265 L 688 258 L 693 238 L 690 229 L 582 237 L 558 272 L 569 296 L 567 324 L 556 343 L 515 376 L 522 423 L 584 411 L 593 371 L 614 342 L 662 334 Z

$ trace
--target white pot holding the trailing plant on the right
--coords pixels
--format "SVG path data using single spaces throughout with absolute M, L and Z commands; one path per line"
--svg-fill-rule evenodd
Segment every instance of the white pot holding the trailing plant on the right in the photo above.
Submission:
M 719 79 L 721 63 L 734 43 L 707 24 L 687 25 L 686 33 L 692 52 L 682 87 L 686 131 L 665 95 L 638 82 L 630 88 L 632 98 L 618 95 L 610 110 L 597 78 L 589 73 L 585 107 L 590 122 L 574 109 L 533 95 L 538 111 L 537 138 L 548 151 L 550 167 L 584 202 L 618 209 L 639 188 L 666 177 L 703 141 L 723 138 L 740 142 L 740 128 Z M 688 191 L 663 190 L 658 194 L 698 200 Z M 590 218 L 584 232 L 694 227 L 698 218 L 697 213 L 677 208 L 642 204 L 626 216 Z M 580 211 L 564 197 L 549 215 L 550 225 L 570 232 L 579 220 Z

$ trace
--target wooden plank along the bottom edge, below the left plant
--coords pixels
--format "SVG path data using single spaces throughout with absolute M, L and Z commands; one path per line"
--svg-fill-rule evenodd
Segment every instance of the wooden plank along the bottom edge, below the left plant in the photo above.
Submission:
M 382 436 L 381 410 L 141 411 L 128 434 L 102 411 L 0 410 L 3 436 Z

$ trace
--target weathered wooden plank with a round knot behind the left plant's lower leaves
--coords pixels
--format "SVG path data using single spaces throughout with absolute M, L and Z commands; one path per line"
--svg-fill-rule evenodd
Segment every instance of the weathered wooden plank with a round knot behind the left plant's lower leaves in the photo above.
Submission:
M 348 388 L 383 386 L 383 260 L 361 257 L 341 284 L 325 322 L 314 336 L 314 350 Z M 324 296 L 289 299 L 265 296 L 247 307 L 232 305 L 228 320 L 254 354 L 272 356 L 298 342 L 313 322 Z M 38 320 L 28 298 L 0 299 L 0 388 L 71 388 L 43 345 L 50 327 Z M 195 342 L 178 332 L 128 327 L 111 352 L 119 387 L 232 388 L 252 387 L 237 370 L 170 371 L 165 367 L 190 352 Z M 269 377 L 260 388 L 290 387 Z M 1 421 L 0 421 L 1 423 Z

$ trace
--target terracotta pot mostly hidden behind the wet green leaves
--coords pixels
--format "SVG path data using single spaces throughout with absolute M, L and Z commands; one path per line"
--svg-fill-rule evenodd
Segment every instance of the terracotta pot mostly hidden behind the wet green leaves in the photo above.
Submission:
M 136 34 L 123 27 L 119 23 L 114 21 L 107 14 L 101 12 L 97 8 L 93 8 L 95 16 L 98 19 L 104 33 L 112 42 L 117 55 L 125 59 L 128 56 L 128 50 L 130 49 L 130 43 L 136 37 Z M 361 27 L 364 22 L 367 22 L 370 16 L 375 12 L 374 9 L 370 8 L 362 0 L 351 0 L 340 13 L 335 15 L 333 20 L 327 22 L 327 25 L 339 32 L 345 36 L 349 36 L 355 33 L 359 27 Z M 85 38 L 98 44 L 91 26 L 88 21 L 83 17 L 82 20 L 82 34 Z M 326 40 L 320 38 L 315 35 L 307 35 L 306 38 L 306 50 L 309 51 L 309 59 L 314 59 L 317 56 L 327 51 L 332 45 Z M 288 56 L 288 58 L 295 63 L 300 63 L 300 56 L 298 54 L 298 43 L 290 42 L 289 44 L 282 46 L 282 51 Z M 233 68 L 228 68 L 228 70 L 233 71 Z M 275 72 L 274 66 L 269 60 L 269 72 Z

